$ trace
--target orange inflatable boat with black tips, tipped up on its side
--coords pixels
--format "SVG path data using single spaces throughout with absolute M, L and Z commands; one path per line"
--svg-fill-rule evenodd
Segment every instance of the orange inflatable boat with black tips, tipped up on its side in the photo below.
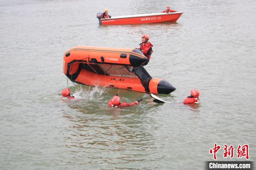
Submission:
M 169 94 L 175 88 L 154 79 L 142 66 L 147 58 L 138 49 L 77 46 L 63 55 L 63 72 L 73 82 L 138 92 Z

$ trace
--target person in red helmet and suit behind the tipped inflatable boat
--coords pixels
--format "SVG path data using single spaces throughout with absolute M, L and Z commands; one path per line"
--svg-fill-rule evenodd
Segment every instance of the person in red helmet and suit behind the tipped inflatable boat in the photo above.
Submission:
M 145 55 L 145 57 L 148 58 L 148 61 L 144 64 L 147 65 L 147 63 L 150 60 L 151 54 L 153 53 L 152 47 L 153 44 L 151 42 L 149 42 L 149 36 L 147 34 L 143 34 L 142 35 L 142 43 L 139 44 L 139 50 Z

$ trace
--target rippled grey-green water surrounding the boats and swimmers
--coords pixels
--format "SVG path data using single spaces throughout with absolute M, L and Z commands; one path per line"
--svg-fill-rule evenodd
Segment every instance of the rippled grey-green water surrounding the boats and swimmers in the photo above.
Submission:
M 177 23 L 99 26 L 96 18 L 104 8 L 120 16 L 166 5 L 184 12 Z M 2 0 L 0 169 L 203 169 L 214 143 L 235 150 L 247 143 L 255 161 L 255 8 L 254 0 Z M 69 48 L 138 47 L 144 33 L 154 45 L 145 68 L 176 87 L 159 95 L 170 103 L 67 85 Z M 78 100 L 60 99 L 66 87 Z M 183 105 L 193 88 L 201 104 Z M 123 101 L 144 100 L 109 108 L 117 92 Z M 218 160 L 229 161 L 222 148 Z

